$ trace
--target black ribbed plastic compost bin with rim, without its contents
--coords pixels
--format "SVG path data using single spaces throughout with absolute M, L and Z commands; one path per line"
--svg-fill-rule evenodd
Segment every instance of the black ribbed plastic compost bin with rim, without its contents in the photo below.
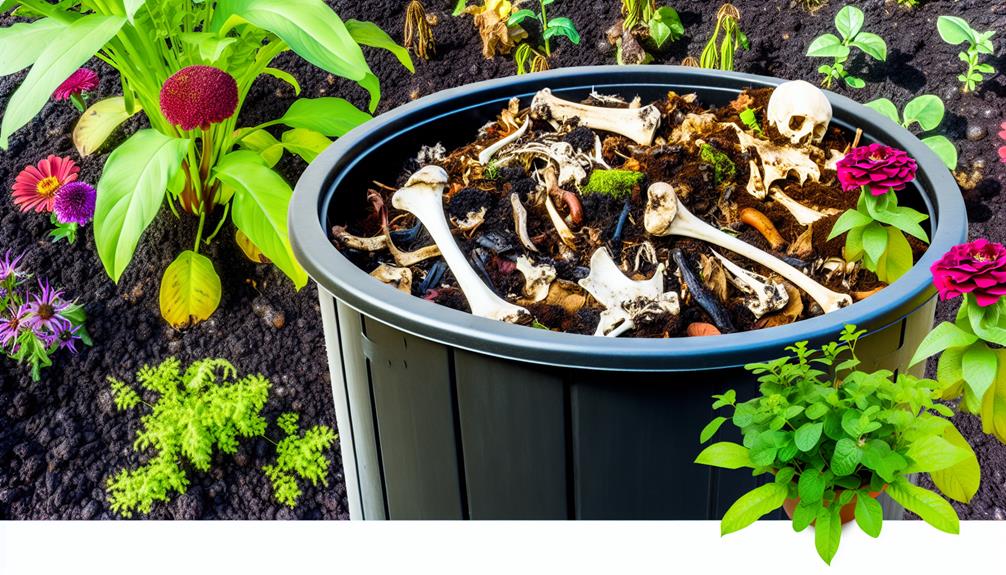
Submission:
M 713 519 L 756 480 L 692 463 L 709 396 L 753 394 L 740 367 L 794 342 L 869 331 L 867 366 L 905 369 L 933 326 L 930 265 L 967 234 L 961 192 L 907 131 L 841 95 L 834 122 L 918 161 L 902 203 L 928 210 L 933 244 L 914 268 L 852 307 L 714 338 L 611 339 L 474 317 L 384 285 L 329 241 L 369 182 L 393 180 L 425 144 L 471 141 L 507 101 L 550 87 L 723 105 L 781 80 L 674 66 L 581 67 L 430 95 L 341 138 L 307 170 L 290 209 L 298 259 L 318 282 L 350 514 L 357 519 Z

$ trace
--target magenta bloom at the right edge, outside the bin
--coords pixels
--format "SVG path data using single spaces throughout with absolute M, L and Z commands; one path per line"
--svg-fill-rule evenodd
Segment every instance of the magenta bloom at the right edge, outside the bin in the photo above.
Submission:
M 954 246 L 933 264 L 941 300 L 973 294 L 987 308 L 1006 296 L 1006 247 L 987 239 Z

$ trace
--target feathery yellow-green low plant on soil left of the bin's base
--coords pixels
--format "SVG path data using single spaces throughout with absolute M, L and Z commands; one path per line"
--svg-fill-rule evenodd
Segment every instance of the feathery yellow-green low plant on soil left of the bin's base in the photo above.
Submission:
M 141 404 L 150 409 L 141 419 L 143 429 L 134 447 L 152 456 L 108 481 L 112 510 L 124 517 L 149 513 L 155 502 L 185 493 L 187 468 L 208 470 L 215 450 L 233 453 L 240 438 L 265 437 L 262 409 L 269 399 L 270 382 L 262 375 L 238 378 L 237 370 L 222 359 L 200 360 L 182 371 L 181 362 L 171 358 L 157 367 L 145 366 L 137 380 L 143 390 L 157 395 L 153 403 L 144 401 L 126 383 L 109 380 L 120 410 Z M 276 498 L 290 507 L 297 505 L 301 495 L 298 478 L 327 485 L 324 451 L 336 438 L 332 429 L 319 425 L 300 435 L 297 419 L 295 413 L 280 417 L 279 425 L 288 437 L 277 445 L 277 462 L 263 467 Z

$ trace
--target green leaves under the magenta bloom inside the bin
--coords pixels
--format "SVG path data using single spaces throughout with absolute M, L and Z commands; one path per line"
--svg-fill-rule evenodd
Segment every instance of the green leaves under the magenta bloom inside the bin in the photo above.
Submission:
M 856 208 L 838 218 L 828 239 L 846 233 L 845 259 L 862 260 L 863 266 L 876 273 L 877 278 L 892 283 L 914 264 L 911 245 L 904 234 L 929 243 L 929 235 L 919 225 L 928 218 L 919 211 L 898 206 L 893 191 L 874 196 L 863 190 Z

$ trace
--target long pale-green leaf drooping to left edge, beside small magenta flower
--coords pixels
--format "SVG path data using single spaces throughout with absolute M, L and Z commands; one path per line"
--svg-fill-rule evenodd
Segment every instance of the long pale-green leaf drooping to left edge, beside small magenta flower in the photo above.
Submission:
M 48 38 L 28 75 L 7 103 L 0 125 L 0 148 L 7 149 L 11 134 L 30 122 L 59 84 L 111 40 L 125 22 L 121 16 L 91 14 Z

